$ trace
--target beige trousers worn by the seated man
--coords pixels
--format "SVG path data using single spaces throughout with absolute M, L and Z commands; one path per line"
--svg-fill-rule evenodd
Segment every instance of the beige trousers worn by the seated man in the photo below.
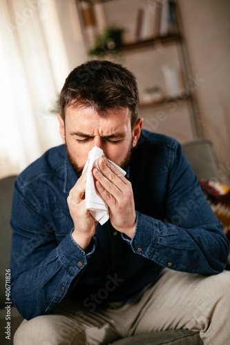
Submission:
M 99 345 L 167 329 L 200 331 L 204 344 L 230 344 L 230 272 L 204 277 L 165 269 L 133 302 L 90 312 L 66 300 L 50 315 L 24 320 L 15 345 Z

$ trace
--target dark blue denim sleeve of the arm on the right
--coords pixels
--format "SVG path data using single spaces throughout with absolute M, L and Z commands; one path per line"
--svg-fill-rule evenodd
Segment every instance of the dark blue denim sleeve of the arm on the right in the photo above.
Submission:
M 202 275 L 222 272 L 229 242 L 180 144 L 172 153 L 165 210 L 164 221 L 136 212 L 133 238 L 122 235 L 133 251 L 173 270 Z

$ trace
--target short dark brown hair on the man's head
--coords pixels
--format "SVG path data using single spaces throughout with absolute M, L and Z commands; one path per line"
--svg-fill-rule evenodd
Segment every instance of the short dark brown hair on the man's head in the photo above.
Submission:
M 64 120 L 68 106 L 93 107 L 102 116 L 109 108 L 128 108 L 133 128 L 139 110 L 137 82 L 133 73 L 117 63 L 88 61 L 70 72 L 59 104 Z

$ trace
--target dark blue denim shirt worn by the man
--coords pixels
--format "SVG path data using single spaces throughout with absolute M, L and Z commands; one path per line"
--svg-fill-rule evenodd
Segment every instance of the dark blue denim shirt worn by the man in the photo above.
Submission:
M 163 268 L 220 273 L 229 244 L 178 141 L 142 130 L 126 176 L 133 186 L 133 239 L 108 220 L 86 252 L 71 233 L 67 197 L 77 177 L 64 145 L 48 150 L 15 182 L 12 200 L 11 298 L 31 319 L 64 297 L 94 311 L 128 302 Z

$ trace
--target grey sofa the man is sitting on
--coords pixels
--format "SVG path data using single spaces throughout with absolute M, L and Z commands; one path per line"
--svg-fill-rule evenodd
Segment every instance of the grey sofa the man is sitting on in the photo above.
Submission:
M 213 144 L 207 139 L 196 139 L 182 145 L 186 157 L 201 180 L 215 179 L 218 181 L 218 160 L 213 150 Z M 10 208 L 12 199 L 13 184 L 16 176 L 6 177 L 0 180 L 0 344 L 13 344 L 13 335 L 23 320 L 16 308 L 6 300 L 6 274 L 10 265 Z M 9 318 L 10 317 L 10 318 Z M 8 319 L 8 320 L 7 320 Z M 7 324 L 10 322 L 10 324 Z M 8 338 L 7 338 L 8 337 Z M 113 342 L 113 345 L 199 345 L 203 344 L 199 332 L 191 332 L 184 329 L 161 331 L 157 333 L 146 333 L 126 337 Z M 31 344 L 32 345 L 32 344 Z M 67 344 L 66 344 L 67 345 Z

